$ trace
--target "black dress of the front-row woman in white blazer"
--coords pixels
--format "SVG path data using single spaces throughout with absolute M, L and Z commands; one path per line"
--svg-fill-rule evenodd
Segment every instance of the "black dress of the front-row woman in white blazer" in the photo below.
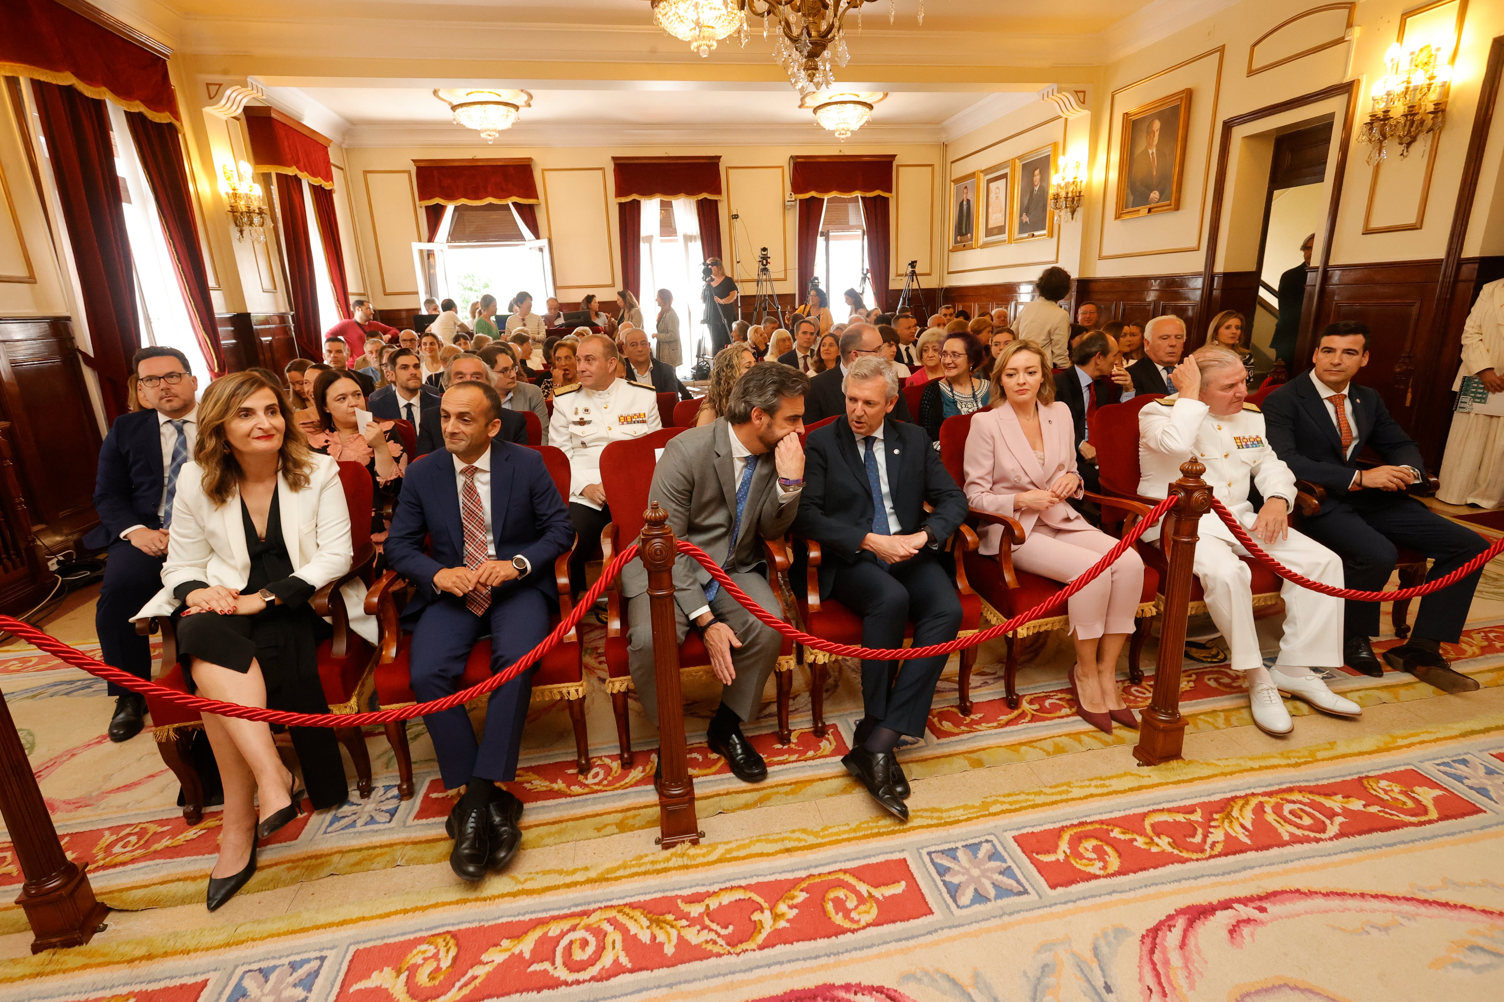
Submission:
M 319 641 L 329 635 L 329 625 L 314 614 L 308 599 L 311 584 L 292 574 L 292 559 L 283 542 L 281 511 L 272 493 L 266 515 L 266 539 L 256 535 L 251 512 L 241 500 L 245 523 L 245 548 L 251 557 L 251 574 L 241 589 L 254 595 L 263 587 L 281 599 L 254 616 L 221 616 L 218 613 L 174 613 L 177 626 L 177 664 L 183 669 L 183 684 L 196 691 L 193 661 L 202 658 L 233 672 L 250 672 L 251 659 L 262 667 L 266 681 L 266 706 L 299 714 L 328 714 L 329 703 L 319 684 Z M 177 601 L 190 592 L 209 587 L 205 581 L 186 581 L 173 589 Z M 328 727 L 290 727 L 292 745 L 302 763 L 302 780 L 308 799 L 316 808 L 335 807 L 349 798 L 344 762 L 334 730 Z

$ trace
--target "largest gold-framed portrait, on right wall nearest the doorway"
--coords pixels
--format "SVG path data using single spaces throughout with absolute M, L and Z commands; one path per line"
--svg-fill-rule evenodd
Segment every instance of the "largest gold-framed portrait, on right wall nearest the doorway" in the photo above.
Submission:
M 1181 207 L 1185 132 L 1190 125 L 1190 87 L 1123 113 L 1117 143 L 1114 219 L 1175 212 Z

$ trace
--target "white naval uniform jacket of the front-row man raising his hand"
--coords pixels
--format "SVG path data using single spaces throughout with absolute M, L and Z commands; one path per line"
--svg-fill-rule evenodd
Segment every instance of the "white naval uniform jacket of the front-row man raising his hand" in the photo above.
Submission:
M 1181 479 L 1181 464 L 1193 457 L 1206 467 L 1202 478 L 1212 494 L 1245 529 L 1257 517 L 1248 502 L 1250 484 L 1265 500 L 1283 497 L 1290 509 L 1295 508 L 1295 473 L 1274 455 L 1263 430 L 1263 415 L 1253 404 L 1244 404 L 1230 418 L 1217 418 L 1202 401 L 1182 400 L 1176 394 L 1161 397 L 1139 412 L 1140 494 L 1169 496 L 1170 482 Z M 1143 538 L 1158 539 L 1163 524 L 1161 520 Z M 1235 542 L 1217 512 L 1202 515 L 1197 532 Z

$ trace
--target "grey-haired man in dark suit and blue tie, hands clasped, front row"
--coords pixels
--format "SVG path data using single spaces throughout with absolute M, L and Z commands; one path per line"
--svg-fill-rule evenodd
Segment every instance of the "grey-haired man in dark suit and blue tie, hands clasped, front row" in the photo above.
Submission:
M 862 616 L 862 646 L 901 647 L 908 619 L 914 646 L 955 640 L 961 599 L 940 547 L 966 518 L 966 494 L 929 448 L 925 430 L 890 421 L 898 377 L 877 356 L 856 359 L 845 376 L 845 416 L 809 434 L 805 491 L 794 532 L 821 545 L 820 596 Z M 934 511 L 925 514 L 925 502 Z M 893 750 L 923 733 L 945 655 L 905 662 L 862 662 L 854 748 L 842 763 L 886 810 L 908 820 Z

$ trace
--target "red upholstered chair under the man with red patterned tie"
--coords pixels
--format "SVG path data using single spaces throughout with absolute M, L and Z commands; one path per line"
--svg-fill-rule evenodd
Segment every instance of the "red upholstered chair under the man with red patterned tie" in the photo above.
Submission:
M 531 412 L 525 412 L 531 413 Z M 569 503 L 569 457 L 553 446 L 541 446 L 543 463 L 549 467 L 553 487 L 559 497 Z M 553 562 L 553 581 L 559 593 L 559 614 L 552 617 L 550 628 L 558 626 L 561 617 L 572 608 L 569 586 L 569 553 L 561 553 Z M 412 691 L 412 675 L 409 662 L 409 646 L 412 634 L 402 628 L 399 619 L 402 605 L 406 604 L 408 581 L 396 571 L 381 575 L 371 590 L 365 595 L 365 611 L 376 616 L 381 625 L 381 650 L 376 662 L 376 702 L 382 709 L 394 706 L 412 706 L 418 702 Z M 532 702 L 547 703 L 564 700 L 570 721 L 575 726 L 575 766 L 581 775 L 590 772 L 590 735 L 585 730 L 585 675 L 584 647 L 579 641 L 579 631 L 569 631 L 564 640 L 538 661 L 532 675 Z M 490 678 L 490 637 L 471 647 L 469 659 L 465 661 L 465 672 L 460 676 L 460 688 L 468 690 Z M 481 697 L 484 700 L 487 697 Z M 477 700 L 477 705 L 480 700 Z M 412 796 L 412 751 L 408 747 L 408 727 L 405 723 L 387 724 L 387 742 L 397 757 L 397 793 L 402 799 Z

